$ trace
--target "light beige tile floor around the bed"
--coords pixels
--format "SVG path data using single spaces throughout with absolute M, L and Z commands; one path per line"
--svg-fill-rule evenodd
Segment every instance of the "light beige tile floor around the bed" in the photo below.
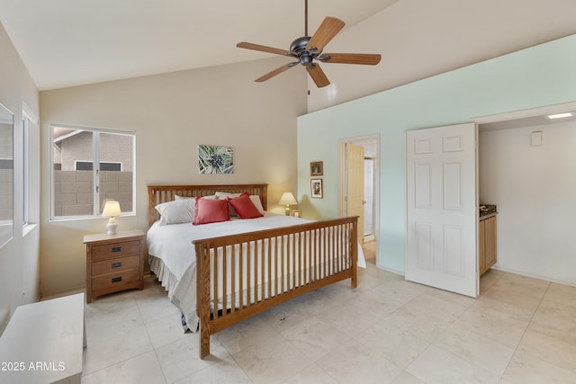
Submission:
M 90 383 L 575 383 L 576 288 L 491 271 L 466 298 L 368 264 L 211 337 L 156 281 L 86 305 Z

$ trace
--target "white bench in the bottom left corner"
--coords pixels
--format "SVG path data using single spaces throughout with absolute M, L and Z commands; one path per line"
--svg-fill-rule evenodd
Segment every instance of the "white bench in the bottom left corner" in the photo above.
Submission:
M 1 383 L 80 383 L 84 293 L 16 308 L 0 337 Z

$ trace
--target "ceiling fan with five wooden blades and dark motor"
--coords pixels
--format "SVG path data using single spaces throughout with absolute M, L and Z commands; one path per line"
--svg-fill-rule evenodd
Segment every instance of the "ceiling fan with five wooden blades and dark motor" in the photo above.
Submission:
M 276 68 L 274 71 L 267 73 L 265 76 L 258 77 L 255 81 L 260 83 L 264 82 L 276 75 L 283 73 L 285 70 L 290 69 L 298 64 L 306 67 L 308 74 L 319 88 L 329 85 L 329 79 L 320 68 L 322 63 L 338 63 L 338 64 L 365 64 L 375 66 L 382 58 L 379 54 L 365 54 L 365 53 L 323 53 L 324 47 L 330 40 L 344 28 L 345 22 L 338 20 L 336 17 L 327 16 L 320 24 L 320 27 L 311 37 L 308 36 L 308 0 L 304 0 L 304 36 L 293 40 L 290 44 L 290 49 L 277 49 L 266 47 L 264 45 L 253 44 L 250 42 L 238 42 L 238 48 L 260 50 L 262 52 L 274 53 L 276 55 L 288 56 L 297 58 L 297 61 L 285 64 L 282 67 Z

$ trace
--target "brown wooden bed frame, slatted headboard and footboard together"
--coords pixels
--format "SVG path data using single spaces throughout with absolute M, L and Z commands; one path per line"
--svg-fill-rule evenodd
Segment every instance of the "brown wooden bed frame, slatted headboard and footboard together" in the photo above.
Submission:
M 266 210 L 267 184 L 148 185 L 149 223 L 158 219 L 154 207 L 174 200 L 175 195 L 246 191 L 260 196 Z M 357 219 L 315 221 L 193 241 L 201 359 L 210 354 L 210 335 L 247 317 L 337 281 L 351 279 L 356 288 Z M 297 255 L 291 262 L 293 250 Z M 214 257 L 218 253 L 222 256 Z M 252 286 L 255 288 L 250 289 Z

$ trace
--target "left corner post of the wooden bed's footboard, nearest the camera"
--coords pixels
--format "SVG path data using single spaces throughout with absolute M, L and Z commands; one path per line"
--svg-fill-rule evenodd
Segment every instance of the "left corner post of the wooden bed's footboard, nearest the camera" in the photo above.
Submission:
M 210 247 L 196 246 L 196 311 L 200 318 L 200 358 L 210 354 Z

